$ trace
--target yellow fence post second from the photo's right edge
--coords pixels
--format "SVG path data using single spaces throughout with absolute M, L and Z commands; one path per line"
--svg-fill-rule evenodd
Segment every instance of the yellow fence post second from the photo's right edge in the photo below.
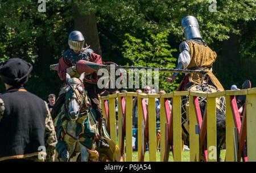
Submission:
M 226 161 L 234 162 L 234 137 L 233 129 L 235 128 L 233 113 L 230 106 L 230 95 L 226 95 Z

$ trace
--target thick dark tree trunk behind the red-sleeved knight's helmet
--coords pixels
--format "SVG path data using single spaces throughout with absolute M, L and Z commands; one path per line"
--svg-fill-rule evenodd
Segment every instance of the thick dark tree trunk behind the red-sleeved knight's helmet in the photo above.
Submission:
M 81 3 L 81 2 L 79 2 Z M 74 30 L 82 32 L 85 38 L 85 44 L 90 45 L 94 53 L 101 55 L 100 39 L 98 37 L 98 29 L 96 17 L 93 12 L 89 14 L 81 14 L 79 6 L 72 1 Z

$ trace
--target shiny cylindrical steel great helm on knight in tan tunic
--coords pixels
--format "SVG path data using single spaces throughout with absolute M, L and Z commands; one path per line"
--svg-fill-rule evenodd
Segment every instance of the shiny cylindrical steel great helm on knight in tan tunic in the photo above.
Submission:
M 185 16 L 181 19 L 181 26 L 186 40 L 201 38 L 199 24 L 194 16 Z

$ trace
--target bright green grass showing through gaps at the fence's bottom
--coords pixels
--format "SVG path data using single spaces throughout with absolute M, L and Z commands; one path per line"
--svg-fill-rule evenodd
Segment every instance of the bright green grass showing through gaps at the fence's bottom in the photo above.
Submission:
M 182 162 L 189 162 L 189 154 L 190 152 L 188 150 L 183 151 L 182 153 Z M 225 159 L 225 150 L 221 150 L 221 159 L 224 161 Z M 149 152 L 146 151 L 145 153 L 145 162 L 149 162 Z M 156 161 L 160 162 L 160 152 L 156 152 Z M 138 151 L 133 151 L 133 162 L 138 162 Z M 172 157 L 172 152 L 170 151 L 169 155 L 169 162 L 174 162 L 174 158 Z

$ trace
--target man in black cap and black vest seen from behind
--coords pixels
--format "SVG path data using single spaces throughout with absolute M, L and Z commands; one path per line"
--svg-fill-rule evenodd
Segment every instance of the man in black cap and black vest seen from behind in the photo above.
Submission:
M 0 161 L 53 161 L 56 133 L 47 103 L 28 92 L 32 65 L 10 58 L 0 66 Z

